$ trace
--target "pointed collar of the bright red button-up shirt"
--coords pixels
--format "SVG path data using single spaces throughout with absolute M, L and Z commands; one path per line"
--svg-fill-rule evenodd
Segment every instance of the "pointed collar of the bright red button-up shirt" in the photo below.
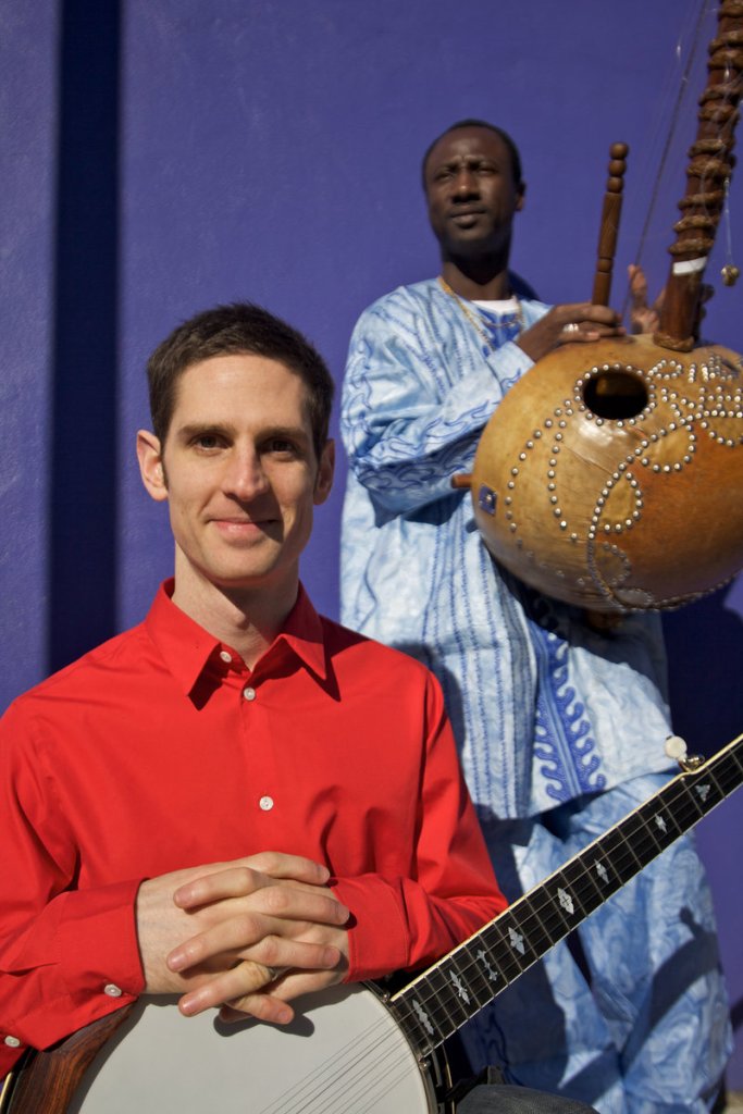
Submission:
M 165 580 L 153 600 L 145 626 L 178 686 L 187 695 L 222 643 L 182 612 L 172 599 L 175 580 Z M 271 657 L 280 644 L 287 646 L 320 681 L 327 680 L 322 619 L 300 584 L 296 603 L 283 629 L 256 663 L 271 670 Z

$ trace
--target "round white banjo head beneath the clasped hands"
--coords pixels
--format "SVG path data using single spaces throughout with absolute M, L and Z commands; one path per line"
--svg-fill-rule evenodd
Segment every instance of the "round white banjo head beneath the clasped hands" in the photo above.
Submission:
M 289 1026 L 183 1017 L 140 998 L 98 1053 L 68 1114 L 431 1114 L 433 1085 L 362 985 L 297 999 Z M 296 1005 L 297 1003 L 295 1003 Z

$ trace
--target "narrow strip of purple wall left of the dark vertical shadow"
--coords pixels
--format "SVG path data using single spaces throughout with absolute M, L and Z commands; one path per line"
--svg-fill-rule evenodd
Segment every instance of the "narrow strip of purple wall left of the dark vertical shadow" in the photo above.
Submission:
M 57 17 L 2 16 L 0 121 L 0 706 L 46 672 L 48 400 L 53 315 Z M 7 683 L 8 687 L 4 688 Z

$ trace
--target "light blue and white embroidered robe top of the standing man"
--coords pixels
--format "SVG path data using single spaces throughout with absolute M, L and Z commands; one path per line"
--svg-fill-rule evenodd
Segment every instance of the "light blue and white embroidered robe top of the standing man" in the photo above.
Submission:
M 522 301 L 524 328 L 547 310 Z M 595 633 L 493 565 L 451 489 L 531 365 L 512 315 L 489 320 L 491 342 L 434 280 L 393 291 L 359 320 L 342 405 L 342 620 L 437 674 L 483 819 L 671 765 L 659 617 Z

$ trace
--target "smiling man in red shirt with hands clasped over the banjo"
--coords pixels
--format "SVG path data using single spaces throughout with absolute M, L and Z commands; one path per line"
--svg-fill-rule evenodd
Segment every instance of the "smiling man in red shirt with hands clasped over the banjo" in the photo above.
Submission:
M 0 727 L 0 1076 L 143 994 L 285 1023 L 505 905 L 436 681 L 300 584 L 333 478 L 322 359 L 238 304 L 148 375 L 175 579 Z

